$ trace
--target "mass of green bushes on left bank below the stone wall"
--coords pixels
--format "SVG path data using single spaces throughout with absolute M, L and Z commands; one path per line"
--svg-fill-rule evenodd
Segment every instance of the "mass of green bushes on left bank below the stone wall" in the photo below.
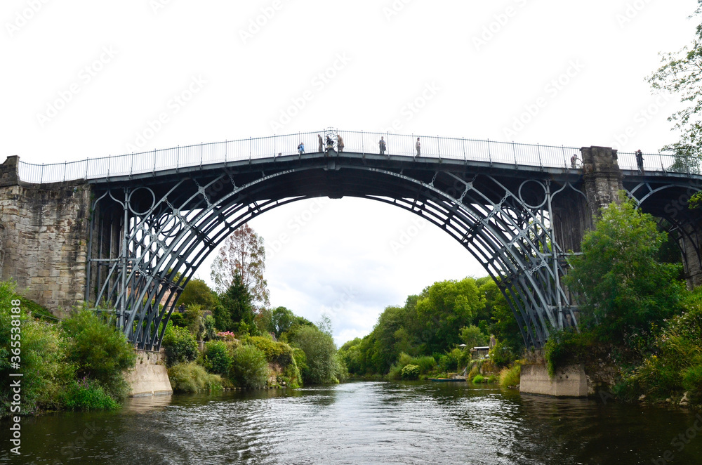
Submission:
M 0 417 L 114 408 L 126 393 L 121 369 L 134 360 L 124 334 L 89 310 L 75 310 L 55 323 L 48 322 L 46 310 L 37 312 L 46 321 L 35 320 L 30 308 L 37 312 L 39 306 L 15 294 L 14 283 L 0 282 L 0 376 L 8 380 L 10 373 L 22 373 L 21 410 L 11 411 L 18 406 L 11 405 L 6 383 L 0 387 Z M 11 366 L 13 356 L 19 369 Z

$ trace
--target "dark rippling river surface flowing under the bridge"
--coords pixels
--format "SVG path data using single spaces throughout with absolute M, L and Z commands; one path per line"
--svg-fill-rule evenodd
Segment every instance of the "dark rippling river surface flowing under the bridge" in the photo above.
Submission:
M 606 397 L 365 381 L 135 398 L 118 412 L 24 419 L 20 456 L 3 422 L 0 463 L 697 465 L 695 424 L 702 430 L 702 415 Z

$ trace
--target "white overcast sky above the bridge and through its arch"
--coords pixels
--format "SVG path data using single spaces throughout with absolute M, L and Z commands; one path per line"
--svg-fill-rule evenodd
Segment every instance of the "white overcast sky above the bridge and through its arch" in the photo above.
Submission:
M 51 163 L 393 124 L 399 133 L 656 152 L 676 138 L 666 117 L 678 104 L 656 100 L 644 77 L 659 51 L 691 42 L 695 8 L 695 0 L 4 0 L 0 156 Z M 294 101 L 302 108 L 288 121 Z M 515 126 L 529 109 L 530 121 Z M 161 113 L 167 121 L 152 136 Z M 343 343 L 432 282 L 486 274 L 416 218 L 326 198 L 256 218 L 272 304 L 315 322 L 326 311 Z M 274 251 L 281 233 L 291 240 Z M 403 233 L 409 244 L 393 248 Z M 209 280 L 208 269 L 198 275 Z

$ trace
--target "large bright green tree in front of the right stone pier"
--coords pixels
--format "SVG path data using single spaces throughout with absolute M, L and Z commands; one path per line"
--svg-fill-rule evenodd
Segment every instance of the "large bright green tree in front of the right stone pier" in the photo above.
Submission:
M 581 297 L 582 322 L 621 341 L 645 334 L 680 309 L 680 265 L 656 257 L 665 241 L 656 222 L 621 194 L 585 235 L 582 255 L 571 259 L 566 284 Z

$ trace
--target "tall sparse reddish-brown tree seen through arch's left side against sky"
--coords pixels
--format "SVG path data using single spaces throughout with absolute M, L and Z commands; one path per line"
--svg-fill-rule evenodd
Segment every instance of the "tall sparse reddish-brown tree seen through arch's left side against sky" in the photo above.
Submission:
M 212 263 L 211 277 L 218 293 L 225 292 L 239 275 L 241 283 L 251 294 L 257 310 L 270 306 L 265 272 L 263 237 L 244 224 L 227 237 Z

